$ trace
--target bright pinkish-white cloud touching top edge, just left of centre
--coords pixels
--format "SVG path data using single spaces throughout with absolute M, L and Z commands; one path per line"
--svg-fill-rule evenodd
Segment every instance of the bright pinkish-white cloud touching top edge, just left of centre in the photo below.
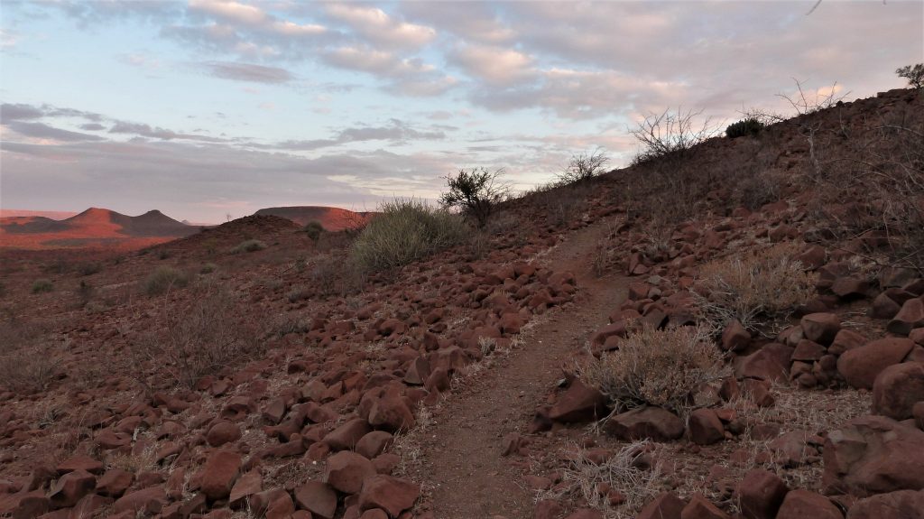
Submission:
M 326 10 L 328 15 L 346 22 L 360 36 L 378 45 L 419 49 L 436 38 L 436 30 L 399 21 L 378 7 L 331 4 Z

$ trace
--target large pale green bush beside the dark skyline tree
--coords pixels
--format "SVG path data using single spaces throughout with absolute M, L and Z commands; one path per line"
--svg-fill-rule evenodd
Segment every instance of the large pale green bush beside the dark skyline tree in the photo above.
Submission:
M 396 199 L 380 211 L 353 244 L 353 260 L 366 272 L 407 265 L 458 245 L 470 234 L 460 215 L 418 200 Z

